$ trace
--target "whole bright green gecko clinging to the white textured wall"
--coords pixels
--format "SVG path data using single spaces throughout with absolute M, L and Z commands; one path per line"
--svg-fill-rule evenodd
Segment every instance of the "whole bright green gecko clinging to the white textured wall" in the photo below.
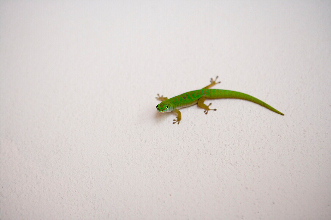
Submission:
M 167 98 L 167 97 L 163 97 L 160 96 L 158 94 L 158 97 L 155 97 L 157 100 L 162 101 L 160 104 L 158 104 L 156 106 L 156 109 L 160 112 L 160 113 L 165 113 L 165 112 L 175 112 L 177 113 L 177 119 L 174 119 L 172 124 L 175 124 L 176 122 L 179 122 L 182 119 L 181 117 L 181 113 L 180 111 L 178 111 L 178 109 L 180 108 L 184 108 L 184 107 L 188 107 L 191 105 L 195 105 L 198 104 L 199 107 L 204 108 L 205 109 L 205 114 L 207 115 L 209 110 L 213 110 L 216 111 L 216 109 L 210 109 L 209 106 L 212 104 L 210 103 L 208 106 L 206 104 L 204 104 L 204 101 L 208 98 L 208 99 L 214 99 L 214 98 L 239 98 L 239 99 L 244 99 L 244 100 L 248 100 L 254 103 L 257 103 L 263 107 L 266 107 L 267 109 L 276 112 L 280 115 L 284 115 L 283 113 L 281 113 L 280 111 L 274 109 L 273 107 L 271 107 L 270 105 L 268 105 L 265 102 L 262 102 L 260 99 L 257 99 L 251 95 L 242 93 L 242 92 L 235 92 L 235 91 L 230 91 L 230 90 L 217 90 L 217 89 L 209 89 L 212 86 L 220 83 L 216 83 L 218 76 L 216 76 L 215 80 L 213 80 L 213 78 L 211 78 L 210 82 L 211 84 L 202 88 L 201 90 L 194 90 L 191 92 L 185 92 L 183 94 L 177 95 L 175 97 L 172 98 Z

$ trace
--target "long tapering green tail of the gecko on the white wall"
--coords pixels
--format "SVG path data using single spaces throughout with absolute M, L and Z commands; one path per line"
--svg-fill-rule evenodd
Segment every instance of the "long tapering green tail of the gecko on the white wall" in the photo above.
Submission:
M 242 92 L 236 92 L 236 91 L 231 91 L 231 90 L 214 90 L 213 92 L 211 92 L 211 97 L 210 98 L 238 98 L 238 99 L 244 99 L 247 101 L 251 101 L 254 102 L 256 104 L 259 104 L 273 112 L 276 112 L 280 115 L 284 115 L 283 113 L 281 113 L 280 111 L 278 111 L 277 109 L 271 107 L 270 105 L 268 105 L 267 103 L 261 101 L 260 99 L 257 99 L 251 95 L 242 93 Z

